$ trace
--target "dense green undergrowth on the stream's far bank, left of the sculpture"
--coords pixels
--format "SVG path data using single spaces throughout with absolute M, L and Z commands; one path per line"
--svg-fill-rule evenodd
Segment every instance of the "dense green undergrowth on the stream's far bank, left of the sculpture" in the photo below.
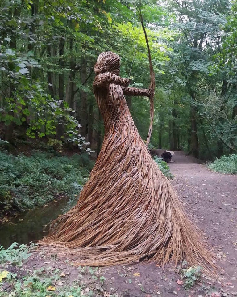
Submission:
M 43 206 L 58 196 L 74 198 L 92 166 L 86 153 L 66 157 L 35 152 L 27 157 L 0 152 L 0 211 Z

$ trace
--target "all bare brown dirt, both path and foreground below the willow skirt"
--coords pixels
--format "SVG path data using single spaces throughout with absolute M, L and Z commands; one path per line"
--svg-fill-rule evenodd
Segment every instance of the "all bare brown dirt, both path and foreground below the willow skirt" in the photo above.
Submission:
M 28 261 L 24 267 L 37 269 L 42 263 L 68 271 L 65 282 L 81 277 L 85 286 L 95 289 L 96 296 L 120 297 L 220 297 L 237 295 L 237 177 L 209 171 L 205 164 L 193 157 L 177 152 L 170 163 L 172 180 L 188 214 L 204 231 L 204 238 L 217 256 L 218 278 L 203 277 L 190 290 L 177 283 L 181 280 L 177 270 L 167 265 L 162 269 L 157 263 L 135 263 L 128 266 L 101 268 L 102 282 L 92 282 L 82 276 L 76 263 L 45 257 Z M 178 281 L 179 282 L 179 281 Z M 94 295 L 95 296 L 95 295 Z

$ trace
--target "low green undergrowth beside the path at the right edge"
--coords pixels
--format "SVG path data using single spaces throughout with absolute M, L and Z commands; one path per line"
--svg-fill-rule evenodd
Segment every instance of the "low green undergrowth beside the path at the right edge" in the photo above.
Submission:
M 223 155 L 213 163 L 210 163 L 208 167 L 220 173 L 237 174 L 237 154 Z

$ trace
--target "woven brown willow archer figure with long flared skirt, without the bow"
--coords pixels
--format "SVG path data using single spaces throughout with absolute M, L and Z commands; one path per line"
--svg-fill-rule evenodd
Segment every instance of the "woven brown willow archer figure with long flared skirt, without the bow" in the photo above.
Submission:
M 182 210 L 169 180 L 141 139 L 124 95 L 150 96 L 119 77 L 120 57 L 101 53 L 94 94 L 105 124 L 102 148 L 77 205 L 40 244 L 80 264 L 103 266 L 150 258 L 205 267 L 212 255 Z

